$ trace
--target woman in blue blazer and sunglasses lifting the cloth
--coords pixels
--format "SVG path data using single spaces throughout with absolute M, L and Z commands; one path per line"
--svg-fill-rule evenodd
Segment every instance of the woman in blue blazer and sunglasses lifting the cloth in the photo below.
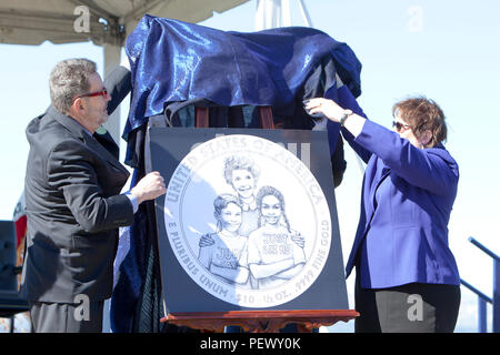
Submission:
M 441 109 L 426 98 L 401 101 L 393 131 L 331 100 L 312 99 L 306 109 L 339 122 L 368 164 L 346 270 L 357 270 L 356 332 L 453 332 L 460 277 L 448 222 L 459 170 L 441 144 Z

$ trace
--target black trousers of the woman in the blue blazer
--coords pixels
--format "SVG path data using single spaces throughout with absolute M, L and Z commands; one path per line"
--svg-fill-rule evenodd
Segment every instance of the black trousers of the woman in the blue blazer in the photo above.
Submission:
M 452 333 L 460 286 L 411 283 L 362 288 L 356 281 L 356 333 Z

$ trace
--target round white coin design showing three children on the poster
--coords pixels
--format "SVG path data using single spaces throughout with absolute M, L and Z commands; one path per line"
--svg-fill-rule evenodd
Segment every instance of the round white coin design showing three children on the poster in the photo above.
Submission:
M 290 302 L 322 272 L 331 215 L 307 164 L 264 138 L 216 136 L 197 144 L 168 181 L 168 243 L 186 274 L 243 307 Z

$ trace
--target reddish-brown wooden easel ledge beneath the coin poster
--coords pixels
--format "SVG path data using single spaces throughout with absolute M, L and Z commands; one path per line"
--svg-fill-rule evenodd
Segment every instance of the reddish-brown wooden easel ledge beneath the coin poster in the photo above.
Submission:
M 229 311 L 169 313 L 161 322 L 216 333 L 223 333 L 228 325 L 238 325 L 251 333 L 278 333 L 287 324 L 296 323 L 299 333 L 311 333 L 312 328 L 357 316 L 359 313 L 354 310 Z

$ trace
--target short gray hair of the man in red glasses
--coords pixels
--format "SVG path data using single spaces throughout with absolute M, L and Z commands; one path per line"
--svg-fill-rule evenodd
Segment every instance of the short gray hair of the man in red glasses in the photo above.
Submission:
M 59 62 L 50 73 L 50 100 L 61 113 L 68 113 L 74 98 L 89 92 L 89 77 L 97 65 L 88 59 L 76 58 Z

